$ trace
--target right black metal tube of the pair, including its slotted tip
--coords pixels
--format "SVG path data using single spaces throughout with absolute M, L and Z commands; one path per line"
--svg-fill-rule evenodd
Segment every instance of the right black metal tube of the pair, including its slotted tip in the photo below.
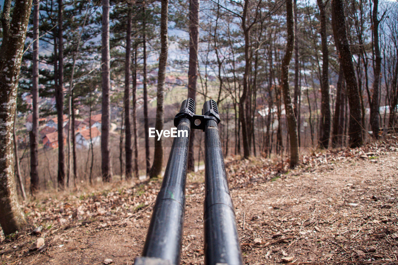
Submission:
M 215 101 L 205 102 L 202 112 L 219 121 Z M 217 121 L 208 119 L 205 133 L 205 264 L 242 265 L 236 217 L 228 189 Z

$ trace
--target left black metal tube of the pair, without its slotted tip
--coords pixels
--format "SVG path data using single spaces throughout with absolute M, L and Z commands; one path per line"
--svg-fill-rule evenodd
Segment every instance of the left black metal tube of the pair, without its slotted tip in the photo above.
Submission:
M 143 257 L 160 258 L 174 265 L 179 264 L 181 255 L 191 121 L 182 117 L 177 130 L 187 130 L 188 137 L 174 138 L 142 251 Z

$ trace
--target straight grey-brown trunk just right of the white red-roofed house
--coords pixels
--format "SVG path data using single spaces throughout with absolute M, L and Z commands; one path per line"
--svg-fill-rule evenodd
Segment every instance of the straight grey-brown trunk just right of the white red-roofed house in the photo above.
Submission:
M 110 108 L 110 54 L 109 54 L 109 0 L 102 0 L 102 117 L 101 117 L 101 171 L 102 181 L 112 179 L 111 150 L 109 146 L 109 131 L 111 127 Z

